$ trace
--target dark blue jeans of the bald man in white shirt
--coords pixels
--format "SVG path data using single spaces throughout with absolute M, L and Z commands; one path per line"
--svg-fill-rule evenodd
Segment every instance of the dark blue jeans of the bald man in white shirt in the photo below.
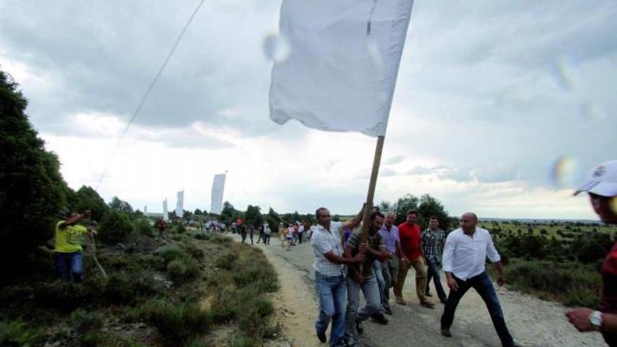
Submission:
M 508 332 L 508 327 L 506 327 L 506 320 L 503 319 L 503 312 L 501 311 L 499 299 L 497 299 L 497 293 L 495 292 L 491 278 L 489 278 L 486 271 L 475 277 L 468 278 L 467 280 L 461 280 L 460 278 L 456 278 L 454 275 L 453 277 L 459 285 L 459 290 L 450 290 L 450 294 L 446 300 L 444 313 L 441 316 L 441 327 L 449 328 L 452 326 L 456 306 L 459 305 L 459 301 L 461 301 L 461 298 L 465 295 L 469 288 L 473 287 L 477 294 L 480 294 L 482 300 L 484 300 L 484 304 L 487 304 L 489 314 L 491 315 L 491 320 L 493 321 L 493 326 L 495 327 L 495 330 L 499 335 L 499 339 L 501 340 L 501 345 L 506 347 L 514 346 L 514 340 L 510 335 L 510 332 Z

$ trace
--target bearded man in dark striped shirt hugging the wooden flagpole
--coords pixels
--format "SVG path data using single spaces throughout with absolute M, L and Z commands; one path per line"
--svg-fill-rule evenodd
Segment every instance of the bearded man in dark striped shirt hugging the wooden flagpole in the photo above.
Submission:
M 383 261 L 388 257 L 384 239 L 381 238 L 381 226 L 384 225 L 384 215 L 381 212 L 371 212 L 369 219 L 368 247 L 365 249 L 365 261 L 362 263 L 362 272 L 357 264 L 348 266 L 347 273 L 347 331 L 345 334 L 348 346 L 354 346 L 357 342 L 356 332 L 362 334 L 362 322 L 372 317 L 380 324 L 388 324 L 381 308 L 377 274 L 374 271 L 373 262 Z M 360 252 L 360 238 L 362 230 L 354 231 L 347 243 L 345 243 L 345 256 L 352 257 Z M 358 310 L 360 306 L 360 290 L 366 300 L 366 306 Z

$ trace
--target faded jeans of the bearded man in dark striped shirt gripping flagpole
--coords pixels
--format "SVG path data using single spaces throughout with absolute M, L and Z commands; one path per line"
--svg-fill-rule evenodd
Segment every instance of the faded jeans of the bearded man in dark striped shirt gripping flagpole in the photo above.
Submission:
M 358 310 L 360 306 L 360 289 L 367 301 L 366 306 Z M 381 298 L 379 297 L 379 287 L 377 286 L 377 276 L 369 275 L 364 278 L 364 282 L 357 283 L 351 276 L 347 276 L 347 332 L 346 339 L 355 341 L 355 320 L 367 320 L 371 315 L 384 314 L 381 308 Z

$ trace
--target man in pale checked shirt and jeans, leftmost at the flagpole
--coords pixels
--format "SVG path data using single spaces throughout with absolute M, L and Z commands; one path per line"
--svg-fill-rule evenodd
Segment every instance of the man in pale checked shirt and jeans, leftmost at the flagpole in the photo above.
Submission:
M 362 209 L 363 210 L 363 209 Z M 341 245 L 341 228 L 354 228 L 362 220 L 362 211 L 350 222 L 330 222 L 330 211 L 320 207 L 315 211 L 318 226 L 311 237 L 311 247 L 315 253 L 313 268 L 315 284 L 319 297 L 319 316 L 315 329 L 319 341 L 326 341 L 325 331 L 330 320 L 330 346 L 344 346 L 345 335 L 345 278 L 343 265 L 356 264 L 364 260 L 366 244 L 360 245 L 360 252 L 355 257 L 344 257 Z

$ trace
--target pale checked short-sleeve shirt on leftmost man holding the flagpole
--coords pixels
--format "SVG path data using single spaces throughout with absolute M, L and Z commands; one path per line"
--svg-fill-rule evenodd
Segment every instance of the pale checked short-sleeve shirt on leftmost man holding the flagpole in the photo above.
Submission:
M 334 264 L 328 260 L 324 254 L 334 252 L 339 257 L 343 256 L 343 246 L 341 245 L 341 222 L 330 222 L 330 231 L 318 225 L 311 236 L 311 247 L 315 253 L 313 268 L 324 276 L 343 275 L 343 265 Z

